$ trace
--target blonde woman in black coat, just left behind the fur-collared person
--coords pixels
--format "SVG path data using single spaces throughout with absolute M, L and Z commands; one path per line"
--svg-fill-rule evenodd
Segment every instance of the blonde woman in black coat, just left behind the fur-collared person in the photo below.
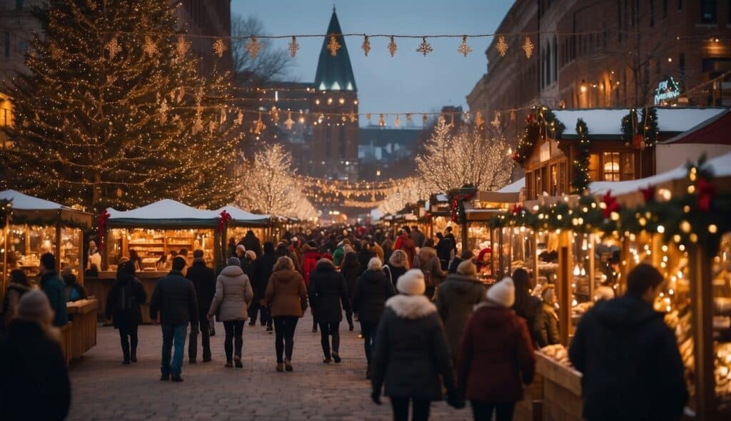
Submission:
M 360 330 L 363 333 L 363 351 L 366 352 L 366 378 L 371 376 L 371 350 L 376 338 L 376 330 L 381 320 L 386 300 L 395 295 L 393 284 L 383 272 L 378 257 L 368 262 L 368 270 L 355 281 L 353 291 L 353 311 L 358 314 Z

